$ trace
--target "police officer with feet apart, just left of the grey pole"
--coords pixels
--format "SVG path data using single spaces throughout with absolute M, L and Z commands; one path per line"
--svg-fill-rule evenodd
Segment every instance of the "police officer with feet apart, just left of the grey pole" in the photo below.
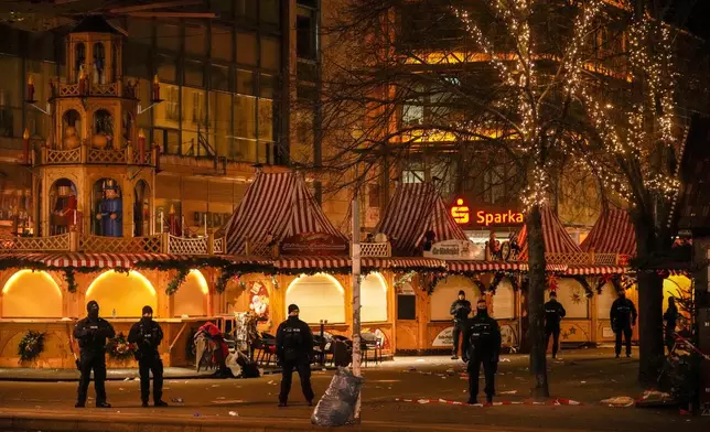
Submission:
M 299 372 L 301 390 L 309 403 L 313 406 L 313 389 L 311 388 L 311 356 L 313 355 L 313 333 L 311 327 L 299 320 L 299 306 L 289 305 L 289 317 L 279 325 L 276 332 L 276 355 L 281 364 L 281 393 L 279 407 L 286 407 L 293 369 Z

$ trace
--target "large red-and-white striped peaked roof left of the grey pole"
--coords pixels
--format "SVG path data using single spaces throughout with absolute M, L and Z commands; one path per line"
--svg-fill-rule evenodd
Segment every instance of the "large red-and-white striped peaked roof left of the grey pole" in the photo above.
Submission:
M 233 256 L 246 253 L 247 239 L 262 245 L 269 236 L 280 241 L 305 233 L 345 238 L 323 214 L 303 177 L 294 172 L 257 172 L 244 199 L 219 230 L 225 231 L 227 253 Z

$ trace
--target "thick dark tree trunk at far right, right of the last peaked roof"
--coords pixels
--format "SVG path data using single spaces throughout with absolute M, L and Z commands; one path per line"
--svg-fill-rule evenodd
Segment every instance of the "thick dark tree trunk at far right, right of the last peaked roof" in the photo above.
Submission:
M 637 220 L 636 253 L 644 262 L 657 249 L 652 224 Z M 638 273 L 638 382 L 655 386 L 663 366 L 665 347 L 663 333 L 663 279 L 655 270 Z

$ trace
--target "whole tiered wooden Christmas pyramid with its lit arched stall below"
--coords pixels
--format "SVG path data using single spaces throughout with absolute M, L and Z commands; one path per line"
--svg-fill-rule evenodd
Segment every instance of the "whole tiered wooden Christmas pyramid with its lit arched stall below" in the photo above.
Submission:
M 222 272 L 267 271 L 271 263 L 225 258 L 225 240 L 182 238 L 157 220 L 159 149 L 136 127 L 138 83 L 122 77 L 121 32 L 92 15 L 66 40 L 63 76 L 25 102 L 47 116 L 40 148 L 28 133 L 18 161 L 32 175 L 26 227 L 0 238 L 0 366 L 74 368 L 74 320 L 96 300 L 120 336 L 109 367 L 135 366 L 125 342 L 151 305 L 165 337 L 165 366 L 189 361 L 191 328 L 222 313 Z M 151 107 L 162 101 L 160 83 Z M 32 237 L 28 237 L 32 236 Z M 190 342 L 190 343 L 189 343 Z

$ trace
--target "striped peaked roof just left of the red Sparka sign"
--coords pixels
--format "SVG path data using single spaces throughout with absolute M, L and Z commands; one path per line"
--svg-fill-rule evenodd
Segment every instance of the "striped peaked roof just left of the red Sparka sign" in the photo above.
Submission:
M 435 234 L 435 241 L 467 239 L 433 184 L 399 185 L 377 231 L 387 235 L 398 255 L 411 256 L 429 230 Z

